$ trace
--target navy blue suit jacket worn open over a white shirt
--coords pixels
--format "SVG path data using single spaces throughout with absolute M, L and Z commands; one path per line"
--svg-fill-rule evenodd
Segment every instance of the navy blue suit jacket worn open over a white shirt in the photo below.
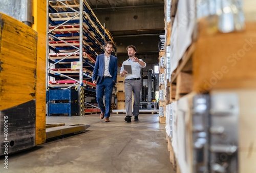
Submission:
M 95 67 L 93 70 L 93 79 L 96 80 L 97 75 L 100 77 L 99 82 L 101 83 L 102 77 L 104 75 L 104 66 L 105 66 L 105 56 L 103 54 L 97 55 Z M 110 64 L 109 64 L 109 72 L 112 76 L 112 79 L 116 82 L 117 77 L 117 57 L 110 55 Z

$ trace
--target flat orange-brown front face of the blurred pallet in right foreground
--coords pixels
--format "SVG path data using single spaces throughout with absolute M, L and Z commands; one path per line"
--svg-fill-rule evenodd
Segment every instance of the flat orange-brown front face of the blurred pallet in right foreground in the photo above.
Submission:
M 256 87 L 256 23 L 246 23 L 244 32 L 207 34 L 207 21 L 199 23 L 199 39 L 193 54 L 193 90 Z M 214 47 L 214 48 L 213 48 Z M 205 58 L 207 56 L 207 58 Z

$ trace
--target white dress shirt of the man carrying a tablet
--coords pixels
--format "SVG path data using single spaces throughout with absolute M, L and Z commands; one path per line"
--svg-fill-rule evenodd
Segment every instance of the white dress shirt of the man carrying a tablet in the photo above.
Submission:
M 133 59 L 134 60 L 134 59 Z M 140 61 L 144 62 L 142 59 L 139 59 Z M 144 62 L 145 63 L 145 62 Z M 140 66 L 139 62 L 134 62 L 132 61 L 130 58 L 123 61 L 122 63 L 122 67 L 120 70 L 120 74 L 123 72 L 123 65 L 131 65 L 132 66 L 132 74 L 126 74 L 125 75 L 125 79 L 133 79 L 133 78 L 140 78 L 140 70 L 141 68 L 145 68 L 146 67 L 146 63 L 145 66 Z M 121 75 L 120 75 L 121 76 Z

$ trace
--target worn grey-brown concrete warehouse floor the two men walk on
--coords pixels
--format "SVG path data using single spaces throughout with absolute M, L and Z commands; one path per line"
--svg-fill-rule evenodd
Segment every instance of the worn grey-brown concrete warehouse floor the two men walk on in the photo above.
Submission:
M 158 114 L 140 114 L 139 121 L 132 119 L 131 123 L 124 117 L 111 114 L 109 123 L 100 120 L 99 114 L 46 117 L 47 124 L 91 127 L 85 133 L 9 155 L 8 170 L 2 165 L 0 172 L 175 172 L 169 161 L 165 124 L 158 122 Z

